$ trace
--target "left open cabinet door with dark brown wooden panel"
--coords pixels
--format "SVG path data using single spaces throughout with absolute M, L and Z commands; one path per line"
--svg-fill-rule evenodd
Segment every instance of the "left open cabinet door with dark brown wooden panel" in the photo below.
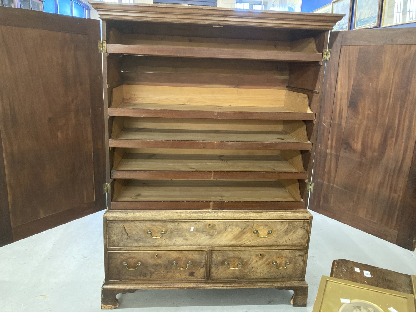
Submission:
M 98 20 L 0 7 L 0 245 L 106 208 Z

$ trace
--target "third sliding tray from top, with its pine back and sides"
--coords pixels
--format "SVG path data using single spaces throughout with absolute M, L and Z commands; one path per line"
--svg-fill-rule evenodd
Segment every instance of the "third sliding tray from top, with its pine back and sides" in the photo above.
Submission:
M 312 149 L 304 121 L 148 117 L 116 117 L 109 145 L 166 149 Z

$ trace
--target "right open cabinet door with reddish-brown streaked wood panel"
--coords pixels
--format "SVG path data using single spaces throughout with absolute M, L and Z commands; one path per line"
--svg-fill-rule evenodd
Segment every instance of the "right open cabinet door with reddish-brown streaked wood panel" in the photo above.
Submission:
M 414 249 L 416 29 L 330 35 L 310 209 Z

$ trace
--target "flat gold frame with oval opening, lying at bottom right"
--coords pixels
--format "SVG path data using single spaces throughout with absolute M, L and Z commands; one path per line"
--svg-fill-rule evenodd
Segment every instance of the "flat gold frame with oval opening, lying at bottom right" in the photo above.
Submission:
M 322 276 L 312 312 L 414 312 L 414 295 Z

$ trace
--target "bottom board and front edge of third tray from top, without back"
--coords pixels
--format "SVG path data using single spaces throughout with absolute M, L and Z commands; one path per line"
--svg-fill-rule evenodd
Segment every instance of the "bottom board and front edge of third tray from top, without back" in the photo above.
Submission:
M 284 131 L 124 128 L 109 144 L 110 147 L 166 149 L 312 149 L 312 143 Z

